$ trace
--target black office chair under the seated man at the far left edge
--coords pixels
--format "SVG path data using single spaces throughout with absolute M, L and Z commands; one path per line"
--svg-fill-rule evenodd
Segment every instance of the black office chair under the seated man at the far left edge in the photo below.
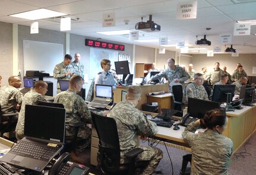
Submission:
M 17 115 L 18 115 L 18 112 L 3 114 L 1 104 L 0 104 L 0 132 L 1 132 L 1 137 L 4 136 L 5 132 L 15 131 L 18 119 L 14 120 L 13 117 L 17 116 Z M 8 120 L 2 121 L 2 117 L 7 117 Z

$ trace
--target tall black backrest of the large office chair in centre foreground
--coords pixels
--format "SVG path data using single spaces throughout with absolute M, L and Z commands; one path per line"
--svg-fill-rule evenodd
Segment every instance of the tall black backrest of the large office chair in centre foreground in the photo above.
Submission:
M 117 172 L 120 166 L 120 145 L 116 121 L 91 112 L 93 125 L 99 136 L 99 165 L 103 171 Z

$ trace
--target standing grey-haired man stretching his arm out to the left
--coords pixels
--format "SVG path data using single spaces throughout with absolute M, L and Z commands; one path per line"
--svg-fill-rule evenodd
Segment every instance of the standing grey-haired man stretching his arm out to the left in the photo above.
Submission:
M 172 81 L 180 82 L 182 84 L 182 87 L 185 87 L 184 82 L 189 78 L 188 73 L 181 66 L 175 66 L 175 60 L 173 58 L 167 59 L 167 64 L 169 68 L 148 79 L 147 83 L 151 82 L 154 79 L 165 77 L 168 80 L 169 84 Z M 172 92 L 172 87 L 170 85 L 169 91 Z

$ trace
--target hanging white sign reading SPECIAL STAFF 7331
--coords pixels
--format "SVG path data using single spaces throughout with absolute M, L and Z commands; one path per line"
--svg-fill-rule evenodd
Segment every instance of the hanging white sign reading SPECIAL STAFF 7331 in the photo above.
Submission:
M 197 18 L 197 1 L 178 3 L 176 10 L 177 20 L 186 20 L 194 18 Z

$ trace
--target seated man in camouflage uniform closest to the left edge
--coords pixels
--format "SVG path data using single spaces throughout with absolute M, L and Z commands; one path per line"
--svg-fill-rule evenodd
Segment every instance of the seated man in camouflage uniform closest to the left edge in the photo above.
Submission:
M 2 113 L 15 113 L 20 109 L 22 103 L 22 95 L 18 88 L 21 86 L 20 78 L 12 76 L 8 78 L 9 85 L 2 87 L 0 90 L 0 104 Z M 8 120 L 8 117 L 3 117 L 2 122 Z M 17 120 L 17 117 L 13 117 Z

